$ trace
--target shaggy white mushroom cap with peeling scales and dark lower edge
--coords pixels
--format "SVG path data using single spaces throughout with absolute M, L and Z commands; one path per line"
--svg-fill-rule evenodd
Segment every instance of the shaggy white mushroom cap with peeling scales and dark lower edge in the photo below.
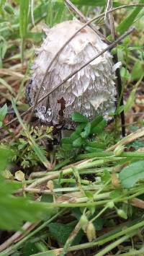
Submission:
M 45 29 L 47 37 L 36 52 L 32 79 L 27 86 L 30 105 L 35 103 L 37 91 L 55 53 L 82 25 L 78 20 L 71 20 Z M 102 42 L 99 35 L 90 27 L 83 28 L 55 58 L 42 84 L 39 98 L 104 48 L 107 48 L 107 44 Z M 63 123 L 63 127 L 68 129 L 73 128 L 72 112 L 81 112 L 89 120 L 97 115 L 111 120 L 109 112 L 114 112 L 117 100 L 114 79 L 118 66 L 113 64 L 109 51 L 105 52 L 38 103 L 35 107 L 37 117 L 50 125 Z

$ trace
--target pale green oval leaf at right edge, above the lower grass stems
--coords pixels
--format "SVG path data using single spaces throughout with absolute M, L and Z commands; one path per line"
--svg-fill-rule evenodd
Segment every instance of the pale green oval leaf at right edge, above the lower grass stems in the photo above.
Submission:
M 144 160 L 134 162 L 122 169 L 119 177 L 122 187 L 133 187 L 138 180 L 144 179 Z

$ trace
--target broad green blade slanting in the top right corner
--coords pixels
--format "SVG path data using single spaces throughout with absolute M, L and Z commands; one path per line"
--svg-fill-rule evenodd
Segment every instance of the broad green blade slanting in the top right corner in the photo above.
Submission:
M 144 0 L 140 0 L 138 4 L 144 4 Z M 120 34 L 123 34 L 128 28 L 135 22 L 136 17 L 138 16 L 139 12 L 142 10 L 142 7 L 135 7 L 135 9 L 120 23 L 117 27 L 117 31 Z

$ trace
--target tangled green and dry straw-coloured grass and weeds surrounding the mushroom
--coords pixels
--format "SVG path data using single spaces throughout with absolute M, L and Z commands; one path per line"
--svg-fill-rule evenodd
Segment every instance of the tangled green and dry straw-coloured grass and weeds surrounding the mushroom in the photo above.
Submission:
M 133 4 L 113 2 L 118 8 Z M 105 1 L 73 4 L 90 19 L 97 16 L 95 23 L 110 38 Z M 29 109 L 24 90 L 33 45 L 45 36 L 42 23 L 53 27 L 76 14 L 61 0 L 0 1 L 0 255 L 143 255 L 144 1 L 136 4 L 141 6 L 114 12 L 119 35 L 136 28 L 112 49 L 122 61 L 125 100 L 117 105 L 117 123 L 106 125 L 102 117 L 90 123 L 73 113 L 76 130 L 56 145 L 53 127 L 20 115 Z M 15 116 L 17 122 L 7 125 Z

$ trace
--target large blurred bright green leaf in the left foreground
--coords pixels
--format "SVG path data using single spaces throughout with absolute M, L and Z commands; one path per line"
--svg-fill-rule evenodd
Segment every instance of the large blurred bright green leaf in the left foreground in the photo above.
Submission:
M 19 182 L 0 179 L 0 229 L 18 230 L 23 221 L 35 222 L 50 213 L 40 202 L 12 195 L 19 187 Z

